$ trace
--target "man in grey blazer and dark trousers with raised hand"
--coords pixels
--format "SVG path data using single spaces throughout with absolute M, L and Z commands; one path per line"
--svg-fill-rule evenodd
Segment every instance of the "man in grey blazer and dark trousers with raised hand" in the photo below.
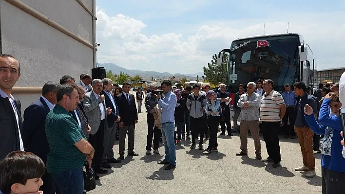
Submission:
M 104 132 L 108 129 L 107 114 L 110 114 L 112 109 L 105 107 L 102 80 L 92 80 L 92 88 L 93 90 L 86 93 L 84 99 L 84 109 L 91 126 L 89 142 L 95 148 L 92 166 L 96 174 L 106 174 L 108 171 L 100 167 L 104 151 Z

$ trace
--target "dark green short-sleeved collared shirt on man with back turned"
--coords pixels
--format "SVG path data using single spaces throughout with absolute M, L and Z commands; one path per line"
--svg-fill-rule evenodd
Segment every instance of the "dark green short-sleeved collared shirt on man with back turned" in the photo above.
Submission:
M 47 115 L 45 132 L 50 147 L 46 164 L 48 173 L 83 168 L 86 155 L 74 144 L 86 137 L 71 113 L 56 105 Z

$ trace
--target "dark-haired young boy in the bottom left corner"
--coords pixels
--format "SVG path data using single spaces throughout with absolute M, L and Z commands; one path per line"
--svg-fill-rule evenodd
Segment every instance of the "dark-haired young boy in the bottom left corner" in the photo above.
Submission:
M 14 151 L 0 162 L 0 191 L 3 194 L 42 194 L 45 165 L 31 152 Z

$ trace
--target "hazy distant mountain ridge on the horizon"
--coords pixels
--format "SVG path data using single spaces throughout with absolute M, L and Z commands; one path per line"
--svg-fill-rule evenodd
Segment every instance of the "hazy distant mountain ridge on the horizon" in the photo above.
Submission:
M 199 76 L 199 80 L 201 80 L 201 76 L 204 75 L 203 72 L 197 72 L 197 73 L 189 73 L 189 74 L 182 74 L 182 73 L 169 73 L 169 72 L 157 72 L 157 71 L 141 71 L 141 70 L 127 70 L 123 67 L 120 67 L 118 65 L 115 65 L 113 63 L 99 63 L 99 67 L 104 67 L 107 71 L 111 70 L 114 74 L 119 74 L 120 71 L 123 71 L 124 73 L 130 75 L 130 76 L 135 76 L 135 75 L 140 75 L 143 80 L 146 81 L 151 81 L 151 77 L 153 79 L 168 79 L 170 77 L 175 76 L 175 78 L 183 78 L 186 77 L 187 79 L 190 80 L 196 80 L 197 75 Z

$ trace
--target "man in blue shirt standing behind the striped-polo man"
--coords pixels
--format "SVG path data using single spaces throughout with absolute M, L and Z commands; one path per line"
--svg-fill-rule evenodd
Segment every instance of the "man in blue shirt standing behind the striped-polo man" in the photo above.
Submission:
M 282 93 L 282 97 L 285 105 L 287 106 L 287 111 L 285 112 L 285 116 L 283 118 L 285 138 L 287 139 L 291 135 L 291 139 L 295 139 L 296 133 L 293 131 L 293 125 L 295 124 L 295 93 L 291 91 L 290 84 L 285 84 L 284 88 L 285 92 Z M 290 123 L 289 125 L 288 121 Z

